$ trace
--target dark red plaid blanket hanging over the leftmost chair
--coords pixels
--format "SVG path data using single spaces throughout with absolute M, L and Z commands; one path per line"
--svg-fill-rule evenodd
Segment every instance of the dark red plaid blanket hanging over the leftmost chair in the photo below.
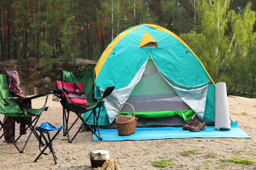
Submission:
M 26 99 L 26 96 L 24 96 L 21 91 L 20 78 L 17 71 L 6 71 L 6 74 L 8 76 L 9 91 L 13 92 L 15 97 L 18 97 L 20 99 Z M 31 100 L 27 100 L 25 102 L 22 101 L 21 105 L 26 108 L 32 108 Z M 13 125 L 12 123 L 15 121 L 15 119 L 15 117 L 4 117 L 3 125 L 5 128 L 9 127 L 7 131 L 9 132 L 10 136 L 14 136 L 15 123 Z M 31 117 L 29 117 L 29 121 L 32 121 Z M 26 122 L 24 118 L 19 118 L 16 122 L 20 123 L 20 134 L 26 134 L 26 132 L 24 132 L 26 129 Z M 12 142 L 7 133 L 4 134 L 4 139 L 6 142 Z

